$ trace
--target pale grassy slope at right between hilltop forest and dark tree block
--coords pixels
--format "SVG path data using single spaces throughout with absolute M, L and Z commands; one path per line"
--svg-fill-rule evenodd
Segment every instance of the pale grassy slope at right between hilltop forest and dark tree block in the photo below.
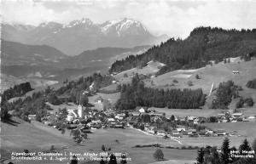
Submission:
M 240 74 L 233 75 L 232 71 L 239 71 Z M 200 79 L 196 79 L 195 76 L 199 75 Z M 256 62 L 255 60 L 247 62 L 233 62 L 229 64 L 219 63 L 218 65 L 207 66 L 197 70 L 177 70 L 171 71 L 166 74 L 157 76 L 153 79 L 154 86 L 151 82 L 147 82 L 148 86 L 154 88 L 202 88 L 204 93 L 209 93 L 214 82 L 214 86 L 218 87 L 219 82 L 226 82 L 232 80 L 236 85 L 244 88 L 244 92 L 241 95 L 253 96 L 256 99 L 256 90 L 248 89 L 245 85 L 249 80 L 252 80 L 256 76 Z M 217 78 L 218 77 L 218 78 Z M 173 83 L 172 80 L 176 79 L 177 83 Z M 189 87 L 187 82 L 193 82 L 193 86 Z M 174 84 L 174 86 L 171 86 Z

